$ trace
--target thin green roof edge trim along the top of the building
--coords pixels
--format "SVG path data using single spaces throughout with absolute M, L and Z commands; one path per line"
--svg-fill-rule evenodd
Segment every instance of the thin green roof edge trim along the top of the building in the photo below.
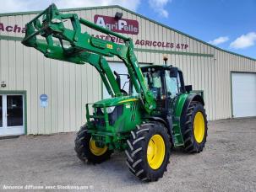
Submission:
M 256 58 L 253 58 L 253 57 L 250 57 L 250 56 L 243 56 L 239 53 L 235 53 L 235 52 L 232 52 L 232 51 L 227 51 L 227 50 L 224 50 L 224 49 L 221 49 L 220 47 L 218 46 L 215 46 L 215 45 L 211 45 L 210 43 L 207 43 L 205 42 L 204 40 L 199 40 L 198 38 L 196 37 L 193 37 L 191 35 L 188 35 L 188 34 L 185 34 L 183 33 L 182 31 L 180 30 L 177 30 L 177 29 L 173 29 L 172 27 L 169 27 L 168 25 L 166 24 L 161 24 L 153 19 L 149 19 L 147 17 L 145 17 L 144 15 L 142 14 L 139 14 L 139 13 L 136 13 L 136 12 L 133 12 L 132 10 L 129 10 L 128 8 L 123 8 L 119 5 L 107 5 L 107 6 L 97 6 L 97 7 L 88 7 L 88 8 L 63 8 L 63 9 L 59 9 L 60 11 L 83 11 L 83 10 L 90 10 L 90 9 L 101 9 L 101 8 L 120 8 L 120 9 L 123 9 L 124 11 L 128 12 L 128 13 L 132 13 L 132 14 L 135 14 L 143 19 L 146 19 L 152 23 L 155 23 L 155 24 L 159 24 L 161 25 L 162 27 L 165 27 L 166 29 L 171 29 L 175 32 L 177 32 L 178 34 L 180 35 L 184 35 L 184 36 L 187 36 L 188 38 L 190 39 L 193 39 L 193 40 L 197 40 L 199 41 L 200 43 L 203 43 L 204 45 L 208 45 L 212 48 L 215 48 L 216 50 L 219 50 L 219 51 L 224 51 L 226 53 L 229 53 L 231 55 L 235 55 L 235 56 L 242 56 L 246 59 L 249 59 L 249 60 L 252 60 L 252 61 L 256 61 Z M 0 17 L 4 17 L 4 16 L 17 16 L 17 15 L 25 15 L 25 14 L 35 14 L 35 13 L 41 13 L 42 10 L 40 11 L 28 11 L 28 12 L 14 12 L 14 13 L 0 13 Z

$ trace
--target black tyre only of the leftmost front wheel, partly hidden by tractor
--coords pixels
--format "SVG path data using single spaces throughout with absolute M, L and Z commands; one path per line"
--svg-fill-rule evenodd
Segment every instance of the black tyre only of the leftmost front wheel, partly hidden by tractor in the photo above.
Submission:
M 87 125 L 80 128 L 77 137 L 74 141 L 74 151 L 82 162 L 102 163 L 109 159 L 112 155 L 112 150 L 107 149 L 101 156 L 96 156 L 90 151 L 91 135 L 87 132 Z

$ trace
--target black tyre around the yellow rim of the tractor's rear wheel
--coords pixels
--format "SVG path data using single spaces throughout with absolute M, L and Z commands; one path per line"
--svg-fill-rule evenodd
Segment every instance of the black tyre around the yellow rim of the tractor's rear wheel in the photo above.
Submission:
M 194 136 L 194 120 L 197 113 L 201 113 L 204 117 L 204 136 L 201 138 L 202 141 L 196 141 Z M 205 146 L 206 138 L 207 138 L 207 115 L 205 114 L 205 109 L 203 104 L 199 102 L 191 102 L 188 106 L 187 113 L 185 114 L 185 122 L 182 125 L 182 136 L 185 143 L 185 152 L 194 153 L 194 152 L 202 152 Z

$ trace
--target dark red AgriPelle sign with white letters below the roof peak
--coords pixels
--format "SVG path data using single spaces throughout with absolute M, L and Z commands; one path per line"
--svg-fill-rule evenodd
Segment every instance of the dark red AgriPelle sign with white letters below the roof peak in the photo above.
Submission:
M 131 19 L 115 19 L 109 16 L 95 15 L 95 24 L 110 29 L 117 33 L 123 34 L 139 34 L 139 23 L 136 20 Z

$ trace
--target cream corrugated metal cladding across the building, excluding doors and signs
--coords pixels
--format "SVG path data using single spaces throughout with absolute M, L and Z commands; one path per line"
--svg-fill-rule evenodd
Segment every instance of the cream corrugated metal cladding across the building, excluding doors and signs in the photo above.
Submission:
M 93 21 L 95 14 L 114 16 L 117 11 L 123 13 L 124 19 L 139 22 L 139 35 L 130 35 L 133 40 L 188 44 L 186 50 L 173 48 L 172 51 L 177 52 L 167 55 L 168 62 L 182 69 L 186 84 L 192 84 L 193 89 L 204 90 L 205 108 L 210 120 L 231 117 L 231 71 L 256 72 L 256 61 L 217 50 L 120 8 L 95 8 L 70 13 L 78 13 L 80 17 Z M 0 22 L 25 26 L 34 17 L 35 14 L 3 16 Z M 98 34 L 91 29 L 83 30 Z M 0 30 L 0 35 L 22 37 L 24 34 Z M 161 64 L 161 51 L 170 51 L 170 48 L 142 45 L 136 48 L 149 50 L 136 51 L 139 62 L 143 63 Z M 0 81 L 7 83 L 7 88 L 0 90 L 27 91 L 28 134 L 76 131 L 85 120 L 84 105 L 101 99 L 101 79 L 89 65 L 46 59 L 39 51 L 27 48 L 12 38 L 0 40 L 0 54 Z M 112 58 L 109 61 L 118 60 Z M 40 107 L 42 93 L 49 96 L 47 108 Z

